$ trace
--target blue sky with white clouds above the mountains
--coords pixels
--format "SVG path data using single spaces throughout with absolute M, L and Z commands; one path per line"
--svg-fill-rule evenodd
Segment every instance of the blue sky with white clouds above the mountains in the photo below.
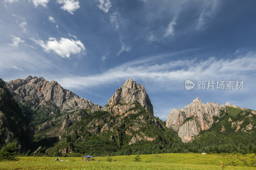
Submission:
M 132 78 L 162 120 L 197 97 L 256 110 L 255 6 L 253 0 L 4 0 L 0 78 L 55 80 L 101 106 Z M 194 89 L 185 89 L 186 80 Z M 216 89 L 218 80 L 234 81 L 234 89 Z M 198 81 L 206 81 L 204 90 Z M 243 89 L 236 81 L 244 81 Z

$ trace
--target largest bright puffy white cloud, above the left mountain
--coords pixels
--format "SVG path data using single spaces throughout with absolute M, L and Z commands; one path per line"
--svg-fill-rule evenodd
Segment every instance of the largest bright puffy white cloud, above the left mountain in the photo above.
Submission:
M 68 38 L 60 38 L 60 40 L 57 40 L 56 38 L 50 37 L 49 41 L 46 42 L 43 40 L 35 40 L 34 38 L 30 39 L 35 41 L 36 44 L 40 45 L 45 52 L 49 53 L 50 51 L 53 51 L 62 58 L 69 58 L 70 54 L 78 54 L 81 51 L 86 50 L 81 41 L 70 40 Z M 85 52 L 84 54 L 86 55 Z

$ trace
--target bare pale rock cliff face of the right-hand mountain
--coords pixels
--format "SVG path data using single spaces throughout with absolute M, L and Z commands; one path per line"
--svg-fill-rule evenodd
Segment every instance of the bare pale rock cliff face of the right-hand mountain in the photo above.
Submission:
M 167 116 L 166 127 L 177 131 L 182 141 L 188 142 L 201 130 L 209 129 L 213 123 L 213 116 L 220 116 L 220 111 L 223 109 L 225 109 L 224 105 L 210 102 L 204 104 L 196 98 L 181 110 L 172 109 Z

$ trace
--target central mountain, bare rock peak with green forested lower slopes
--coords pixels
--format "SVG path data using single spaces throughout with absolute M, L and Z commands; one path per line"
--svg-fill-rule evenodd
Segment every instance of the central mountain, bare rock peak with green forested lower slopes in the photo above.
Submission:
M 180 141 L 153 115 L 145 88 L 128 79 L 103 108 L 70 126 L 56 147 L 66 145 L 73 152 L 118 155 L 134 154 L 132 148 L 151 153 L 151 145 L 163 149 L 173 140 Z

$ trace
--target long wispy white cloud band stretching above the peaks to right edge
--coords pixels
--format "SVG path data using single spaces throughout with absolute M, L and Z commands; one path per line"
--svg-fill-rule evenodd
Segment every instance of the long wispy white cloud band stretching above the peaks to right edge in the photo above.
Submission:
M 139 66 L 117 66 L 102 74 L 86 77 L 66 77 L 58 82 L 65 88 L 93 88 L 97 85 L 107 85 L 112 82 L 125 81 L 128 78 L 150 82 L 163 91 L 169 91 L 174 86 L 183 84 L 186 79 L 196 80 L 236 80 L 244 79 L 244 75 L 255 72 L 256 54 L 246 54 L 235 59 L 216 59 L 211 57 L 205 61 L 185 60 L 164 63 L 161 65 L 141 64 Z M 249 82 L 247 82 L 249 84 Z M 154 84 L 154 85 L 153 85 Z M 168 85 L 168 86 L 166 86 Z M 183 89 L 182 89 L 183 90 Z

